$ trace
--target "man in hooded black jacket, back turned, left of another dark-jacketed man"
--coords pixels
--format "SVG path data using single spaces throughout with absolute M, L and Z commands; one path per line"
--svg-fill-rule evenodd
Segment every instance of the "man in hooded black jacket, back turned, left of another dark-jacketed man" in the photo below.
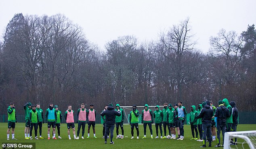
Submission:
M 209 147 L 212 147 L 212 132 L 211 132 L 211 122 L 212 122 L 212 115 L 213 111 L 210 108 L 209 105 L 206 104 L 206 102 L 202 103 L 202 106 L 204 107 L 200 114 L 196 118 L 202 118 L 202 127 L 204 130 L 204 145 L 201 147 L 206 147 L 206 136 L 209 139 Z

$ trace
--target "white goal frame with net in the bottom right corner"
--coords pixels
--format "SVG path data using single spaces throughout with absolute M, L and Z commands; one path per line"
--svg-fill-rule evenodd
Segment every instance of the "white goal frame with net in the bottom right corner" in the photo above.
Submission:
M 237 142 L 233 142 L 237 138 Z M 233 139 L 233 141 L 231 141 Z M 231 145 L 236 143 L 236 145 Z M 256 149 L 256 130 L 225 132 L 224 149 Z

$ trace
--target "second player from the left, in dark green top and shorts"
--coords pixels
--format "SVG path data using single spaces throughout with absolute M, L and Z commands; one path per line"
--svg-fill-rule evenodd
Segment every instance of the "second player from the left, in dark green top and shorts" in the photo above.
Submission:
M 23 106 L 23 109 L 25 110 L 25 139 L 30 139 L 29 134 L 30 134 L 30 111 L 31 111 L 31 106 L 32 104 L 30 102 L 26 103 Z

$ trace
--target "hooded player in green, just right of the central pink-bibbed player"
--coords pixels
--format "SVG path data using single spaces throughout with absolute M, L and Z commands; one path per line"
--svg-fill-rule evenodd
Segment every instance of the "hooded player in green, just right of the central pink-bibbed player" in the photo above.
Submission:
M 163 112 L 160 110 L 159 106 L 155 106 L 155 111 L 154 113 L 154 118 L 155 118 L 155 132 L 156 132 L 156 137 L 158 138 L 158 126 L 160 130 L 160 135 L 161 138 L 163 138 L 163 130 L 162 130 L 162 122 L 163 122 Z

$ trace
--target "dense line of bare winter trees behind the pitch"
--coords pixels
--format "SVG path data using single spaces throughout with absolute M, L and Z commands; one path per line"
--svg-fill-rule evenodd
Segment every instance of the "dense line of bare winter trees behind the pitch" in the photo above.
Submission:
M 79 25 L 62 14 L 15 14 L 0 43 L 0 104 L 80 103 L 120 106 L 177 103 L 190 107 L 204 100 L 235 101 L 239 111 L 255 111 L 256 30 L 221 29 L 210 37 L 207 54 L 195 49 L 189 18 L 160 33 L 157 41 L 138 43 L 118 37 L 105 51 L 91 43 Z M 6 107 L 7 108 L 7 107 Z M 6 108 L 0 113 L 6 114 Z

